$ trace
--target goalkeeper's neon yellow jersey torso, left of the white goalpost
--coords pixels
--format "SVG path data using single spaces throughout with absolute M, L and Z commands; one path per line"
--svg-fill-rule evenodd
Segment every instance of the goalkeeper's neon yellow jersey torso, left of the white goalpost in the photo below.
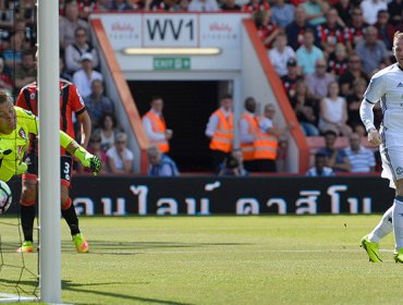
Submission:
M 16 127 L 11 134 L 0 134 L 0 149 L 11 154 L 0 160 L 0 180 L 8 182 L 17 172 L 29 145 L 29 134 L 38 134 L 38 119 L 32 112 L 14 107 Z

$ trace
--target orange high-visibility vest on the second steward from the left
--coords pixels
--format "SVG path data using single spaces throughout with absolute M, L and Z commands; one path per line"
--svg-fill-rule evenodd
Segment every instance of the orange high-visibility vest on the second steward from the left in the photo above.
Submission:
M 221 108 L 216 110 L 212 115 L 217 115 L 219 120 L 209 147 L 212 150 L 231 152 L 234 139 L 234 115 L 231 112 L 227 118 Z

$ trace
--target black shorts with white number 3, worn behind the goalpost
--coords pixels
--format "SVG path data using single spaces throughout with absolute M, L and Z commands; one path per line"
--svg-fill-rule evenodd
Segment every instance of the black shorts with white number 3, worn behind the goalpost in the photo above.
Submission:
M 23 174 L 23 179 L 37 179 L 38 176 L 38 157 L 29 154 L 25 158 L 25 162 L 28 166 L 28 170 Z M 60 180 L 66 186 L 70 185 L 72 179 L 73 159 L 70 156 L 60 157 Z

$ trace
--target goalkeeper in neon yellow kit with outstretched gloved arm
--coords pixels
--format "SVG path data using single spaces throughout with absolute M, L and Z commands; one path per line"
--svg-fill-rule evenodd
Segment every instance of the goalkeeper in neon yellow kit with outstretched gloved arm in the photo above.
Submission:
M 38 124 L 36 115 L 13 106 L 8 94 L 0 89 L 0 180 L 8 182 L 13 175 L 23 174 L 27 170 L 28 166 L 23 160 L 29 146 L 29 135 L 38 135 Z M 102 167 L 99 158 L 89 154 L 62 131 L 60 131 L 60 144 L 94 174 L 99 173 Z M 80 252 L 87 252 L 88 245 L 85 239 L 82 240 Z M 32 248 L 34 251 L 33 246 Z

